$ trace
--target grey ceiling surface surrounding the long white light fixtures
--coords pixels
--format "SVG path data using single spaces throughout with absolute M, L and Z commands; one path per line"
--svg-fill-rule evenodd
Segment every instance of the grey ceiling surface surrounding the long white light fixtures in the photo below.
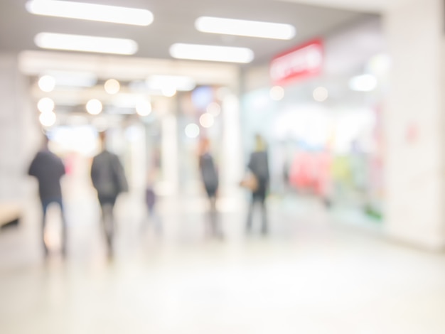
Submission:
M 94 0 L 94 2 L 149 9 L 154 14 L 154 22 L 150 26 L 140 27 L 35 16 L 26 11 L 26 0 L 1 0 L 0 50 L 14 53 L 21 50 L 38 50 L 33 38 L 37 33 L 45 31 L 132 38 L 139 44 L 139 50 L 135 54 L 139 58 L 171 59 L 168 48 L 173 43 L 247 47 L 254 51 L 255 58 L 252 65 L 259 65 L 268 63 L 282 50 L 316 36 L 326 36 L 371 15 L 276 0 Z M 296 27 L 297 33 L 290 41 L 200 33 L 194 28 L 194 21 L 199 16 L 290 23 Z

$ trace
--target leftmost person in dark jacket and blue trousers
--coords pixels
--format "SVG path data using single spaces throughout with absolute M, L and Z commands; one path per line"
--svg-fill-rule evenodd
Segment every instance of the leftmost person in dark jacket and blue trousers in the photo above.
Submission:
M 28 175 L 34 176 L 38 181 L 38 195 L 43 209 L 42 241 L 45 257 L 48 256 L 48 247 L 45 244 L 46 212 L 50 204 L 56 203 L 62 215 L 62 252 L 66 254 L 66 220 L 63 210 L 62 189 L 60 178 L 65 175 L 65 166 L 62 160 L 48 149 L 48 137 L 44 137 L 43 149 L 38 151 L 28 169 Z

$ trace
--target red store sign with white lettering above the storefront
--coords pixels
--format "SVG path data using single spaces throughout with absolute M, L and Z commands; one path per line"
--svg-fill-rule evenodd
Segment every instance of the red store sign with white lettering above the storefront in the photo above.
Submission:
M 312 77 L 323 68 L 323 41 L 316 39 L 274 57 L 270 77 L 274 85 Z

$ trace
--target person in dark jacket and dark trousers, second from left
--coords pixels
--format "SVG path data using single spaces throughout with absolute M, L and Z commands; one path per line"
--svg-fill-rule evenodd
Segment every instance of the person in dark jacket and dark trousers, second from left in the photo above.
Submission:
M 119 157 L 107 151 L 105 145 L 106 136 L 100 133 L 102 151 L 92 159 L 91 181 L 97 190 L 100 208 L 102 210 L 102 225 L 107 239 L 108 254 L 113 252 L 114 236 L 114 204 L 117 196 L 128 190 L 127 178 Z

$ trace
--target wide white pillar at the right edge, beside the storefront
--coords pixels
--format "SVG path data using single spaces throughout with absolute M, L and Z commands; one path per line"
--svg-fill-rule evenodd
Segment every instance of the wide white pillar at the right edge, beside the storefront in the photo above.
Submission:
M 384 112 L 386 228 L 429 249 L 445 246 L 444 8 L 407 1 L 384 14 L 392 57 Z

